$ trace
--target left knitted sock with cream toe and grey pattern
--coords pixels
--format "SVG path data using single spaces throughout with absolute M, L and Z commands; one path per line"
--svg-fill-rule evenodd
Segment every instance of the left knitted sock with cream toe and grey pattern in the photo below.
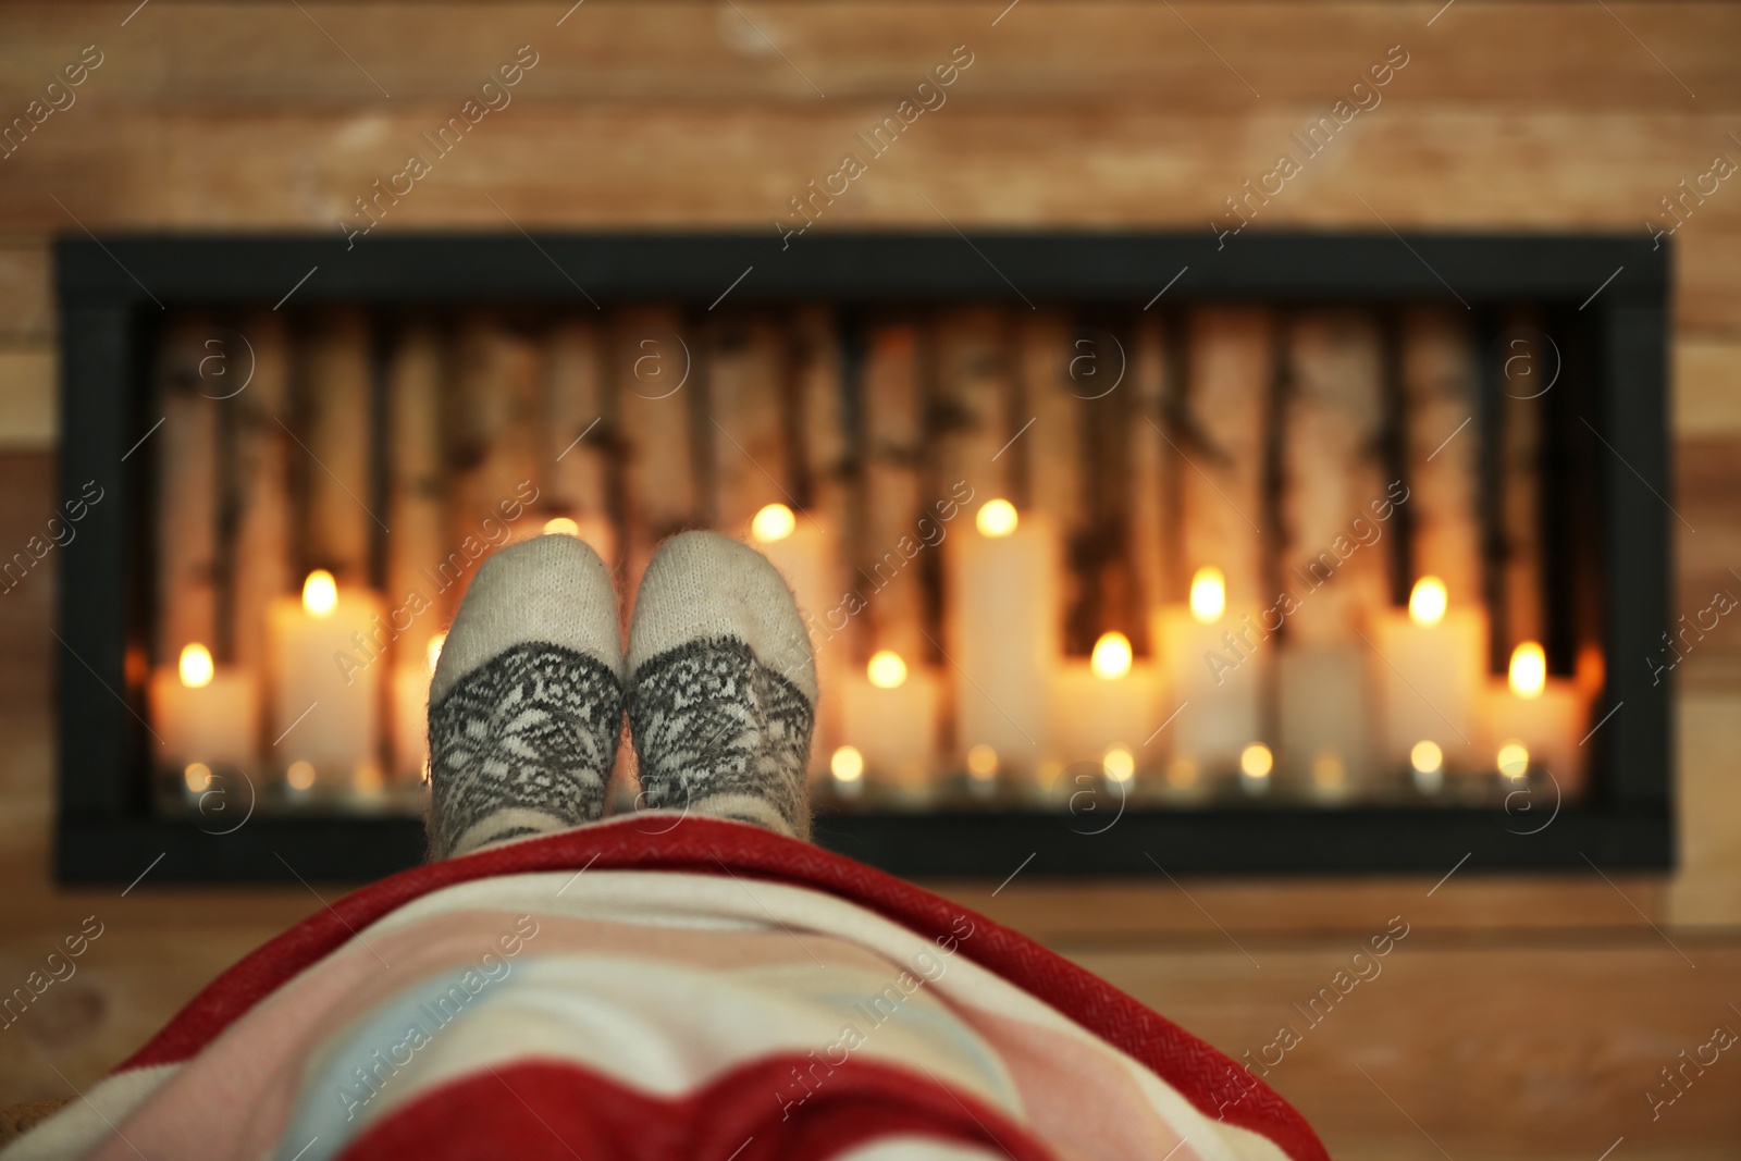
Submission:
M 489 557 L 430 684 L 430 858 L 604 813 L 623 714 L 616 594 L 575 536 Z

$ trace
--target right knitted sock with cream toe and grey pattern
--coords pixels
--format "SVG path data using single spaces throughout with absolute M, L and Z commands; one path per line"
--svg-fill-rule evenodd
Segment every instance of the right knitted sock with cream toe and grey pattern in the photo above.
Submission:
M 817 665 L 766 557 L 714 533 L 667 540 L 635 599 L 629 672 L 648 806 L 810 837 Z

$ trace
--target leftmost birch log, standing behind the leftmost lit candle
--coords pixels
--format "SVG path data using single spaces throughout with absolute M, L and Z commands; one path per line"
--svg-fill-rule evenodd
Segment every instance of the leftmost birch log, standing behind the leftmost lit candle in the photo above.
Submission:
M 204 320 L 178 324 L 158 362 L 155 644 L 167 667 L 186 644 L 211 648 L 218 630 L 218 400 L 200 378 L 212 336 Z

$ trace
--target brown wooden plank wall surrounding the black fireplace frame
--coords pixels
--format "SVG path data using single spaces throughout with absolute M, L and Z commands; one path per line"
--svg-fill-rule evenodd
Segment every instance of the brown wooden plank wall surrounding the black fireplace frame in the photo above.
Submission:
M 768 230 L 773 244 L 776 223 L 803 225 L 790 198 L 857 153 L 865 172 L 818 202 L 817 230 L 1208 232 L 1234 225 L 1224 198 L 1269 172 L 1292 132 L 1388 56 L 1407 63 L 1381 103 L 1262 204 L 1252 230 L 1647 233 L 1650 221 L 1673 223 L 1663 198 L 1699 188 L 1713 158 L 1741 162 L 1734 3 L 134 3 L 0 9 L 0 131 L 33 99 L 64 106 L 37 106 L 42 124 L 14 131 L 0 158 L 9 547 L 56 503 L 54 235 L 359 228 L 355 200 L 411 151 L 432 153 L 421 134 L 517 54 L 534 63 L 507 89 L 510 103 L 409 193 L 381 202 L 376 230 L 717 225 Z M 45 92 L 82 57 L 71 104 Z M 945 103 L 870 157 L 857 134 L 952 57 Z M 1678 204 L 1673 237 L 1677 613 L 1706 607 L 1718 588 L 1741 595 L 1731 571 L 1741 569 L 1741 186 L 1717 179 L 1711 191 L 1711 181 Z M 1168 277 L 1156 272 L 1156 289 Z M 7 1034 L 0 1100 L 64 1095 L 47 1064 L 84 1084 L 218 968 L 315 905 L 299 889 L 146 886 L 129 912 L 106 895 L 49 888 L 52 557 L 28 583 L 0 606 L 0 858 L 19 884 L 19 905 L 0 909 L 0 971 L 7 985 L 23 978 L 61 926 L 92 909 L 113 916 L 115 935 L 54 1011 Z M 1414 933 L 1386 976 L 1351 994 L 1346 1020 L 1307 1032 L 1271 1077 L 1337 1156 L 1596 1158 L 1616 1138 L 1617 1161 L 1732 1156 L 1741 1065 L 1711 1067 L 1657 1119 L 1644 1093 L 1713 1023 L 1741 1027 L 1725 1006 L 1741 1003 L 1731 987 L 1741 968 L 1741 628 L 1724 620 L 1673 677 L 1685 825 L 1670 877 L 1464 869 L 1433 895 L 1431 882 L 1391 879 L 1186 884 L 1201 910 L 1172 886 L 1065 888 L 1041 869 L 996 898 L 991 884 L 949 889 L 1233 1053 L 1292 1020 L 1351 940 L 1405 916 Z

